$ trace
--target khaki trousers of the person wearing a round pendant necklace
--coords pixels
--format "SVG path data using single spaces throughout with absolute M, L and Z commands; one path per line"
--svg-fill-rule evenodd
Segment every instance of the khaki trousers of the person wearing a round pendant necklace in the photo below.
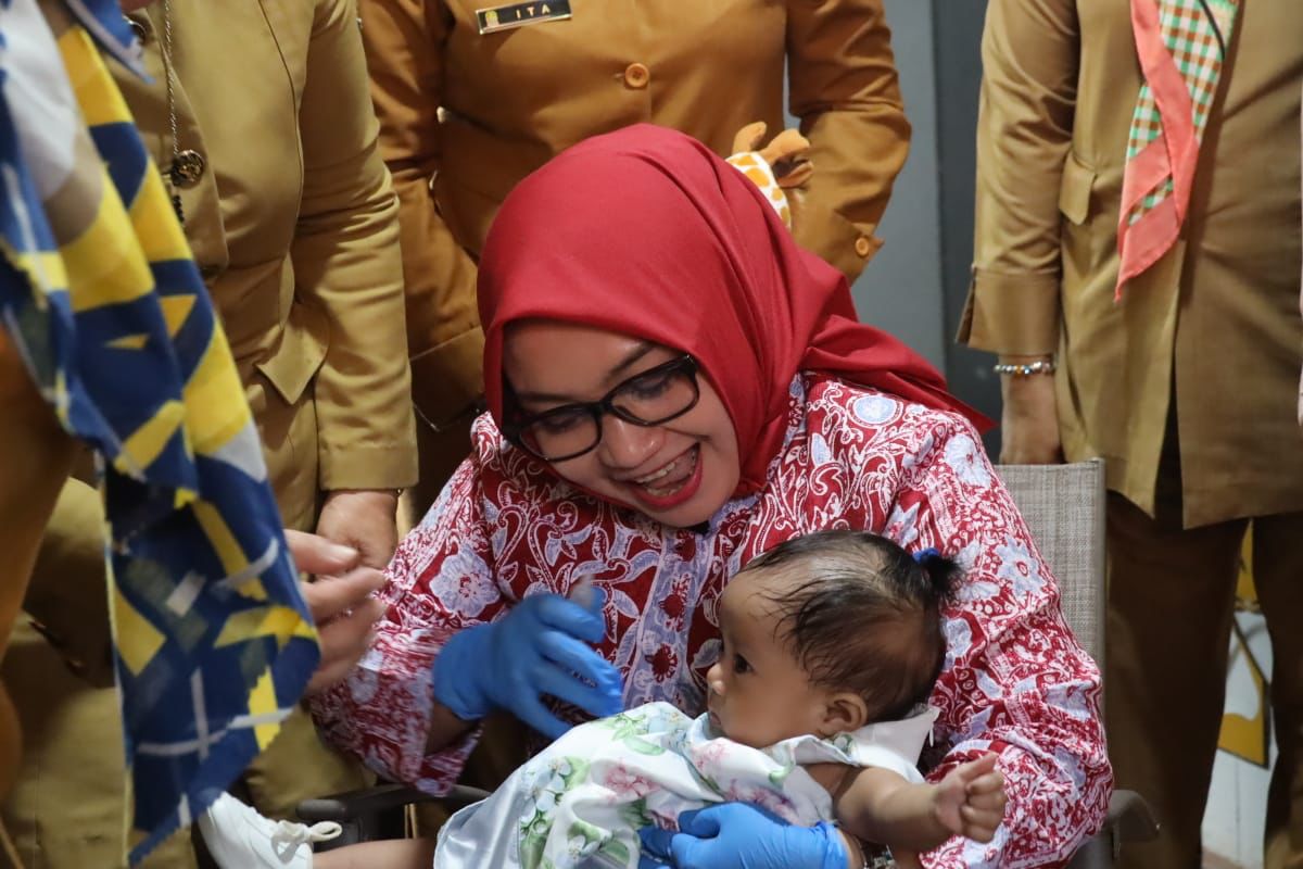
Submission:
M 261 374 L 241 374 L 284 521 L 309 529 L 318 509 L 311 396 L 289 404 Z M 34 615 L 43 634 L 20 615 L 3 666 L 25 741 L 17 784 L 0 817 L 26 869 L 126 866 L 121 719 L 116 689 L 99 667 L 108 642 L 99 534 L 98 496 L 70 481 L 51 519 L 27 597 L 29 607 L 40 610 Z M 291 817 L 302 799 L 371 780 L 358 763 L 324 747 L 298 711 L 233 790 L 266 814 Z M 142 865 L 195 866 L 189 834 L 172 836 Z

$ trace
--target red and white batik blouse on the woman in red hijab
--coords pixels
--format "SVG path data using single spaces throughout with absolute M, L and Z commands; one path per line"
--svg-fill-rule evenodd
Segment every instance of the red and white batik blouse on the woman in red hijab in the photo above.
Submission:
M 473 736 L 425 752 L 439 649 L 526 594 L 567 594 L 582 577 L 606 591 L 598 651 L 624 675 L 625 705 L 698 714 L 727 578 L 790 537 L 868 529 L 911 551 L 934 546 L 964 569 L 945 611 L 949 651 L 930 700 L 943 757 L 929 779 L 994 750 L 1007 782 L 993 842 L 955 836 L 924 864 L 1061 865 L 1101 826 L 1111 791 L 1100 672 L 977 434 L 958 414 L 816 374 L 792 382 L 790 408 L 765 487 L 726 503 L 706 533 L 577 492 L 482 417 L 476 455 L 388 568 L 370 650 L 313 701 L 318 722 L 382 775 L 447 790 Z

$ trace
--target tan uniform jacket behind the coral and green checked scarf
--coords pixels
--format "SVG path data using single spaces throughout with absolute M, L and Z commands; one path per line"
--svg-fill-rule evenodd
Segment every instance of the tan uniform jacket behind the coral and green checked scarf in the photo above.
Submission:
M 960 340 L 1059 353 L 1067 457 L 1153 511 L 1175 403 L 1184 522 L 1303 509 L 1303 5 L 1244 0 L 1179 242 L 1113 302 L 1140 72 L 1127 0 L 992 0 Z M 1173 393 L 1173 384 L 1175 392 Z

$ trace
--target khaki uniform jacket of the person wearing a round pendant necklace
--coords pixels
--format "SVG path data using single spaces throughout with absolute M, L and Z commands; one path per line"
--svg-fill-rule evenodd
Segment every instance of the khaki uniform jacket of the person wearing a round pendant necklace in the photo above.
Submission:
M 287 503 L 291 481 L 313 498 L 413 483 L 396 205 L 353 1 L 171 0 L 171 9 L 175 141 L 162 4 L 130 16 L 154 82 L 115 76 L 164 176 L 173 146 L 205 159 L 198 182 L 177 190 L 185 235 L 249 390 L 281 509 L 301 512 Z M 296 425 L 280 430 L 268 409 L 281 404 L 315 413 L 315 456 L 288 448 Z

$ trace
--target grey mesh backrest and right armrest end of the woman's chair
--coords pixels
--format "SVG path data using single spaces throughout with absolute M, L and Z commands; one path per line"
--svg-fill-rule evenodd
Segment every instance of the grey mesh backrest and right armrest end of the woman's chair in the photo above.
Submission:
M 1104 461 L 1071 465 L 998 465 L 1027 528 L 1059 584 L 1063 618 L 1078 642 L 1104 662 Z M 1070 869 L 1108 869 L 1127 842 L 1158 835 L 1145 801 L 1117 791 L 1109 818 L 1072 857 Z

